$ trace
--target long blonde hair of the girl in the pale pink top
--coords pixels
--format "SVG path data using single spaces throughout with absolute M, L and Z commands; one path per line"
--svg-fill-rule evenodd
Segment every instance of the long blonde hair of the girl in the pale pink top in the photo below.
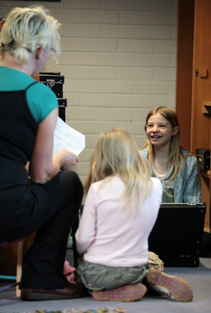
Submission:
M 113 128 L 101 133 L 97 139 L 84 187 L 88 192 L 92 182 L 104 180 L 103 186 L 107 180 L 119 175 L 125 183 L 122 199 L 125 198 L 126 203 L 132 204 L 135 200 L 135 204 L 139 204 L 153 188 L 150 174 L 151 166 L 140 156 L 131 134 L 121 128 Z

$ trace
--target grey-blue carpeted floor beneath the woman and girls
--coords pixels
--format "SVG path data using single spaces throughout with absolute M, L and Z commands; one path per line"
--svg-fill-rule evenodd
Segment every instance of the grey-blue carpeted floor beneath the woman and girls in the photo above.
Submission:
M 72 265 L 72 251 L 68 251 L 67 259 Z M 210 313 L 211 311 L 211 257 L 200 258 L 198 267 L 165 267 L 165 273 L 184 278 L 192 287 L 194 299 L 182 303 L 148 295 L 135 302 L 96 301 L 92 297 L 74 300 L 23 301 L 15 296 L 15 290 L 0 292 L 0 313 Z M 2 284 L 0 283 L 0 286 Z M 106 310 L 105 310 L 106 309 Z M 115 309 L 115 310 L 114 310 Z M 39 311 L 38 311 L 39 310 Z M 40 311 L 43 310 L 43 311 Z M 46 312 L 45 312 L 46 310 Z

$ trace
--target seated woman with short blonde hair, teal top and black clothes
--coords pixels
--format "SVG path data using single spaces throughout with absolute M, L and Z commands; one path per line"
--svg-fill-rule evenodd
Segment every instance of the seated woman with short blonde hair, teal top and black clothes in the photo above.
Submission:
M 14 8 L 0 38 L 0 242 L 37 231 L 22 266 L 24 300 L 84 296 L 63 275 L 67 241 L 83 186 L 65 148 L 54 157 L 55 93 L 32 76 L 60 52 L 60 24 L 40 6 Z M 30 163 L 29 173 L 25 166 Z

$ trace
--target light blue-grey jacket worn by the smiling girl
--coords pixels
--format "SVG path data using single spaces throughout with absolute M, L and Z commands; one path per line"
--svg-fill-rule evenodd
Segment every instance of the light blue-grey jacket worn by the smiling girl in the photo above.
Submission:
M 139 150 L 142 157 L 148 158 L 148 147 Z M 182 153 L 187 155 L 189 151 L 182 149 Z M 174 202 L 175 203 L 198 203 L 201 201 L 201 180 L 198 169 L 198 160 L 191 156 L 185 158 L 181 177 L 179 171 L 175 176 Z

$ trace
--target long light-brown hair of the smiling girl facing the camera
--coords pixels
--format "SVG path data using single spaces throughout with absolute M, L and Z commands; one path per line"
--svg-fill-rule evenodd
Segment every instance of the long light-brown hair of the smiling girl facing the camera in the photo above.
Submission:
M 176 135 L 174 135 L 171 139 L 171 144 L 169 148 L 169 157 L 167 161 L 167 168 L 170 168 L 172 165 L 174 165 L 174 171 L 173 171 L 173 177 L 171 178 L 171 181 L 175 178 L 177 171 L 179 170 L 180 176 L 181 176 L 181 171 L 185 163 L 185 158 L 192 156 L 191 153 L 187 155 L 183 155 L 182 153 L 182 148 L 180 146 L 181 140 L 180 140 L 180 124 L 178 121 L 177 114 L 173 109 L 167 106 L 156 106 L 153 108 L 149 113 L 146 118 L 146 123 L 145 123 L 145 131 L 147 131 L 147 125 L 148 125 L 148 119 L 152 115 L 160 114 L 161 116 L 165 117 L 165 119 L 172 125 L 174 128 L 175 126 L 179 127 L 179 131 L 177 132 Z M 154 147 L 151 144 L 149 140 L 147 140 L 146 144 L 140 148 L 139 150 L 142 150 L 143 148 L 148 147 L 148 160 L 150 164 L 153 164 L 153 158 L 155 155 L 154 152 Z

